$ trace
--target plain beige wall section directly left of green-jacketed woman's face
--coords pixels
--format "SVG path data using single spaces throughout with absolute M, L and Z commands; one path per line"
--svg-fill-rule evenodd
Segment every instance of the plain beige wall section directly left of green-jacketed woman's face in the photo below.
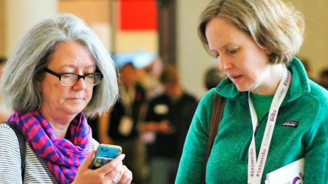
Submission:
M 198 17 L 209 0 L 177 1 L 177 65 L 181 83 L 200 98 L 204 92 L 203 73 L 217 62 L 203 49 L 197 36 Z

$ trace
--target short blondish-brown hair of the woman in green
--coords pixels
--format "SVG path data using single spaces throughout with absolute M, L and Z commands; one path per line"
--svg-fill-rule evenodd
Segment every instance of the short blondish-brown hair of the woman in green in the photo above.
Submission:
M 303 42 L 304 20 L 292 5 L 280 0 L 213 0 L 198 25 L 198 36 L 209 53 L 205 30 L 214 17 L 224 18 L 251 35 L 259 47 L 269 51 L 272 64 L 288 64 Z

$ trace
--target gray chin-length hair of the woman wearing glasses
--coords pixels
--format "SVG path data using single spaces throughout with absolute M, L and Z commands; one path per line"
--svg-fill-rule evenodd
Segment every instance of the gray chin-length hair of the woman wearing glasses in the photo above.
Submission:
M 80 18 L 72 14 L 58 14 L 34 26 L 18 43 L 8 58 L 1 80 L 5 103 L 17 111 L 40 108 L 42 94 L 37 81 L 60 42 L 76 41 L 86 46 L 97 70 L 103 73 L 100 84 L 94 86 L 92 98 L 83 110 L 95 116 L 112 107 L 118 97 L 117 71 L 111 55 L 98 36 Z

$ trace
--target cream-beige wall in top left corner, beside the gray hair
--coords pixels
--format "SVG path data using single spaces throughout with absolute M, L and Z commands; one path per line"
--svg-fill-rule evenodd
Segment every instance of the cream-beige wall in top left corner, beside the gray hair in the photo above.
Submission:
M 0 0 L 1 53 L 8 57 L 17 42 L 37 22 L 49 18 L 56 13 L 57 0 Z

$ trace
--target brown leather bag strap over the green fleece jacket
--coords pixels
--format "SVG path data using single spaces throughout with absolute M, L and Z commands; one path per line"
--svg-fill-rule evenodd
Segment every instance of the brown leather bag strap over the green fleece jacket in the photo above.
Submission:
M 218 133 L 218 129 L 220 126 L 220 122 L 222 119 L 222 114 L 224 110 L 224 106 L 226 105 L 226 98 L 221 97 L 217 93 L 214 93 L 214 103 L 212 108 L 212 117 L 211 117 L 211 126 L 209 132 L 209 140 L 207 143 L 207 152 L 206 152 L 206 159 L 205 159 L 205 169 L 204 169 L 204 178 L 203 183 L 206 183 L 206 167 L 209 156 L 211 154 L 211 150 L 214 144 L 215 137 Z

